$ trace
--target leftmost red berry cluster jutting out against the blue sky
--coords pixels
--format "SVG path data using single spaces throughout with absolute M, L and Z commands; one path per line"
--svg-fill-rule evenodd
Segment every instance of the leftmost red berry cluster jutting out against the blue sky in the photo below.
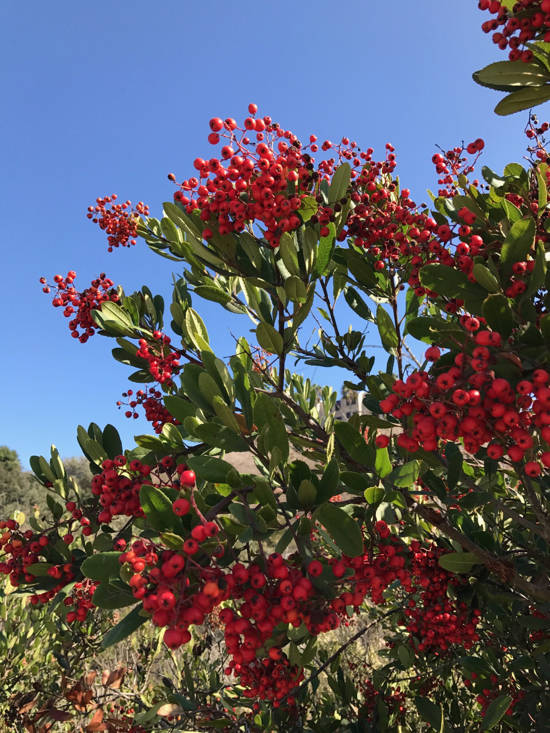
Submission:
M 51 292 L 51 287 L 56 288 L 56 295 L 51 301 L 54 308 L 63 308 L 63 315 L 73 319 L 69 321 L 69 329 L 73 339 L 78 339 L 81 344 L 85 344 L 89 336 L 95 334 L 95 321 L 92 319 L 92 310 L 101 310 L 101 303 L 111 301 L 117 303 L 119 297 L 117 291 L 113 290 L 113 281 L 106 277 L 105 273 L 92 280 L 90 286 L 78 292 L 73 285 L 76 278 L 76 272 L 70 270 L 67 277 L 61 275 L 54 276 L 54 286 L 46 284 L 46 279 L 41 277 L 40 282 L 45 286 L 43 292 Z M 79 333 L 78 328 L 82 329 Z

